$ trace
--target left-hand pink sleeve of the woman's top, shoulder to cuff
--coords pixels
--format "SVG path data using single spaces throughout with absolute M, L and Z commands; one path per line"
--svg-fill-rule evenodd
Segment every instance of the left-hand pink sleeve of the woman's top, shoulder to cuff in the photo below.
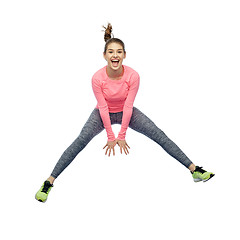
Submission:
M 108 105 L 103 96 L 100 81 L 95 78 L 92 78 L 92 88 L 93 88 L 94 95 L 98 102 L 98 107 L 99 107 L 100 115 L 101 115 L 101 118 L 103 121 L 103 125 L 107 131 L 108 141 L 114 141 L 115 135 L 112 131 Z

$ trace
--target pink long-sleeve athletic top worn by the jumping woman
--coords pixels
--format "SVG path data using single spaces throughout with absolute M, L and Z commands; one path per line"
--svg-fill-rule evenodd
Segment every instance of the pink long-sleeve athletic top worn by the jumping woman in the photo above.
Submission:
M 121 130 L 117 139 L 125 140 L 126 131 L 132 116 L 133 102 L 139 88 L 140 77 L 132 68 L 123 65 L 124 73 L 120 80 L 112 80 L 107 75 L 107 66 L 98 70 L 92 77 L 92 88 L 97 99 L 108 141 L 114 141 L 109 113 L 123 112 Z

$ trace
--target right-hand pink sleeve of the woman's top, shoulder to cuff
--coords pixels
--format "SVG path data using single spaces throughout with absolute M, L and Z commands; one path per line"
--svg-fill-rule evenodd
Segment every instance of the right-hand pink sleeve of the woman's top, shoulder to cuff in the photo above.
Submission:
M 140 82 L 139 75 L 137 73 L 134 73 L 131 76 L 131 79 L 129 81 L 130 83 L 129 92 L 123 107 L 122 125 L 121 125 L 121 130 L 117 137 L 119 140 L 125 140 L 126 131 L 127 131 L 130 119 L 132 117 L 133 102 L 135 100 L 135 97 L 137 95 L 138 88 L 139 88 L 139 82 Z

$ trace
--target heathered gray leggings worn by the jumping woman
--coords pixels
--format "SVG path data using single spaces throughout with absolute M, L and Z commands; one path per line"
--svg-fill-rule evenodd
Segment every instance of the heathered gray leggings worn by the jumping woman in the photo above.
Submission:
M 110 113 L 109 115 L 112 124 L 121 124 L 123 115 L 122 112 Z M 147 116 L 145 116 L 135 107 L 133 107 L 133 113 L 129 127 L 158 143 L 168 154 L 182 163 L 185 167 L 188 168 L 192 164 L 182 150 L 172 140 L 170 140 L 165 133 L 160 130 Z M 104 126 L 99 110 L 95 108 L 85 123 L 80 135 L 62 154 L 61 158 L 53 169 L 51 176 L 57 178 L 61 172 L 73 161 L 78 153 L 87 146 L 92 138 L 94 138 L 103 130 Z

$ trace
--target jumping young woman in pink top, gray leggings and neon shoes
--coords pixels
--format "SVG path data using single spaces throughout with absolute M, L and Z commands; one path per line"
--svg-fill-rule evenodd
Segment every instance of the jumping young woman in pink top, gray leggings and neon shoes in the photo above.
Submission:
M 105 27 L 104 27 L 105 28 Z M 139 88 L 139 75 L 132 68 L 122 65 L 126 58 L 124 43 L 118 38 L 112 38 L 112 26 L 105 28 L 104 40 L 106 42 L 103 56 L 107 66 L 98 70 L 92 77 L 92 88 L 97 99 L 97 106 L 91 113 L 77 139 L 66 149 L 50 177 L 43 183 L 35 197 L 40 202 L 47 200 L 53 187 L 54 180 L 73 161 L 93 137 L 104 128 L 108 141 L 104 146 L 105 154 L 115 155 L 115 147 L 120 152 L 129 153 L 129 146 L 125 140 L 127 128 L 130 127 L 144 134 L 158 143 L 168 154 L 188 168 L 195 182 L 206 182 L 214 176 L 202 167 L 195 166 L 182 150 L 171 141 L 147 116 L 136 107 L 134 99 Z M 117 137 L 112 131 L 112 124 L 121 124 Z

